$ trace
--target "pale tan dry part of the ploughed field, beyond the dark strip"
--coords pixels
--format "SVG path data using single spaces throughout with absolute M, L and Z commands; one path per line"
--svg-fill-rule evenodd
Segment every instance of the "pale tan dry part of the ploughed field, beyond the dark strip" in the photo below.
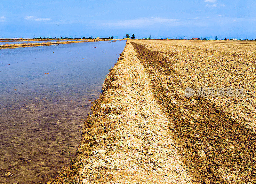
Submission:
M 205 88 L 207 99 L 214 100 L 236 121 L 255 130 L 256 42 L 154 40 L 136 43 L 144 44 L 147 49 L 162 54 L 168 63 L 172 63 L 169 67 L 176 71 L 175 81 L 171 81 L 176 86 L 175 93 L 184 95 L 186 87 L 195 91 Z M 152 72 L 158 73 L 156 70 Z M 224 98 L 208 97 L 208 88 L 233 88 L 233 96 L 226 96 L 226 93 Z M 236 89 L 242 88 L 244 93 L 241 98 L 236 96 Z

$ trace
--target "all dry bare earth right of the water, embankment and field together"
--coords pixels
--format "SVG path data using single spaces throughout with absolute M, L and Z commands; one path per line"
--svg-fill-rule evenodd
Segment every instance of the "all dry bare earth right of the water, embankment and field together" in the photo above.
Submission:
M 255 48 L 128 41 L 74 164 L 49 183 L 256 183 Z

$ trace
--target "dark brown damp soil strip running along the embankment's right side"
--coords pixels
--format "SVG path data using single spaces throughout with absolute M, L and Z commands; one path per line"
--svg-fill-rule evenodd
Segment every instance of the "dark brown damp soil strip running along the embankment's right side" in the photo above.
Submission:
M 157 101 L 168 109 L 170 135 L 194 183 L 256 183 L 255 132 L 232 120 L 229 112 L 205 97 L 177 94 L 174 83 L 180 82 L 180 74 L 169 61 L 170 53 L 131 43 Z M 185 91 L 187 86 L 180 83 L 179 87 Z M 199 156 L 202 150 L 205 158 Z

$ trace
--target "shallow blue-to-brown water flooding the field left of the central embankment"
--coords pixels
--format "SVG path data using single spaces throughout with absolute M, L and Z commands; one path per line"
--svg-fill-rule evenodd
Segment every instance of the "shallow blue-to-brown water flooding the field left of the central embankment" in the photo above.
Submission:
M 0 183 L 45 183 L 69 165 L 54 140 L 76 153 L 91 101 L 125 43 L 0 49 Z

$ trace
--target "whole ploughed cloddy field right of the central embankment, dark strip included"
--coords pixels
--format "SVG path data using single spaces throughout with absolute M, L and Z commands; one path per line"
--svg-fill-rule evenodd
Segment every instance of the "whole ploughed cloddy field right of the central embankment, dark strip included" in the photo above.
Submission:
M 202 41 L 135 41 L 132 45 L 159 104 L 168 108 L 170 135 L 192 181 L 256 183 L 255 45 Z M 188 98 L 187 87 L 195 91 L 244 88 L 244 93 L 195 93 Z

